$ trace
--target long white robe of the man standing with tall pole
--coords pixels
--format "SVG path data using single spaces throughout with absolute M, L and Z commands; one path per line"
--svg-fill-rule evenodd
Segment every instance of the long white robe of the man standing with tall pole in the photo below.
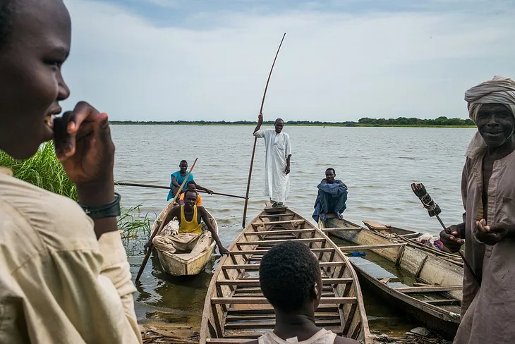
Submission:
M 265 139 L 265 195 L 275 202 L 285 202 L 290 191 L 286 159 L 291 155 L 290 137 L 275 129 L 257 130 L 255 137 Z

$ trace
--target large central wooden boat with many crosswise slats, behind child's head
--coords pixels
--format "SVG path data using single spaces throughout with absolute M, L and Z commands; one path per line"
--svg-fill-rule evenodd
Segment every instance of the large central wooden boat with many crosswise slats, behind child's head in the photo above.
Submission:
M 274 309 L 260 290 L 259 264 L 270 247 L 287 240 L 305 243 L 319 259 L 323 288 L 317 326 L 372 343 L 349 259 L 327 235 L 286 207 L 262 211 L 222 258 L 207 290 L 200 343 L 244 343 L 273 330 Z

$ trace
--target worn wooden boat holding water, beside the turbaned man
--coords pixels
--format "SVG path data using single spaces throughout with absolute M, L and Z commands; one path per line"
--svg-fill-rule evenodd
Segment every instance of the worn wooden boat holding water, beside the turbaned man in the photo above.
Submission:
M 350 221 L 332 218 L 318 225 L 343 239 L 334 239 L 341 250 L 365 251 L 365 257 L 349 257 L 362 285 L 374 288 L 384 300 L 443 338 L 454 338 L 460 322 L 463 267 Z

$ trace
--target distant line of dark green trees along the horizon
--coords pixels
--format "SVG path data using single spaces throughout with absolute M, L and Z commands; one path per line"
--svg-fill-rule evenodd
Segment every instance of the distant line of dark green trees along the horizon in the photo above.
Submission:
M 147 124 L 147 125 L 255 125 L 255 121 L 110 121 L 112 124 Z M 264 121 L 263 125 L 273 125 L 274 121 Z M 328 125 L 340 127 L 363 126 L 470 126 L 470 119 L 447 118 L 441 116 L 435 119 L 425 118 L 360 118 L 357 122 L 321 122 L 321 121 L 286 121 L 287 125 Z

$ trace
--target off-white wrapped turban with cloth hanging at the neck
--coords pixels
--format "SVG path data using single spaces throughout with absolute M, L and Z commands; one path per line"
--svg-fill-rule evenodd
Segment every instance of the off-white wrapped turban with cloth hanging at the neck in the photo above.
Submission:
M 511 109 L 515 116 L 515 80 L 495 75 L 492 80 L 481 82 L 465 92 L 465 101 L 468 103 L 468 116 L 476 120 L 481 104 L 503 104 Z M 475 133 L 468 144 L 466 156 L 473 159 L 484 152 L 485 141 L 480 133 Z

